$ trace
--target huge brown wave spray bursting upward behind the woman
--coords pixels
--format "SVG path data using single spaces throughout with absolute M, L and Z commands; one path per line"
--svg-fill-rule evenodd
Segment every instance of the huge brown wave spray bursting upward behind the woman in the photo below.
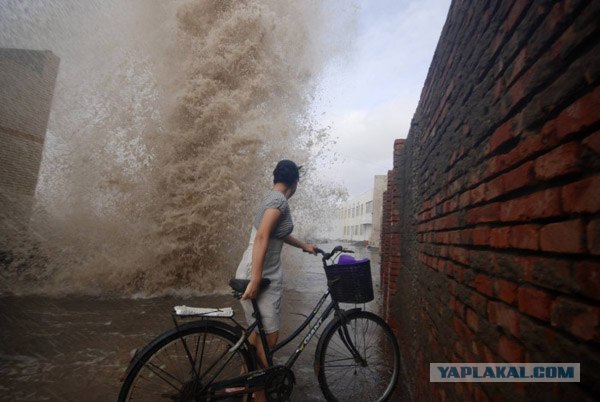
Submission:
M 85 35 L 54 38 L 61 73 L 38 203 L 10 239 L 3 291 L 219 291 L 282 158 L 309 170 L 292 200 L 297 226 L 327 216 L 340 192 L 310 170 L 330 139 L 309 112 L 331 50 L 327 12 L 272 0 L 59 13 L 54 23 L 76 17 Z

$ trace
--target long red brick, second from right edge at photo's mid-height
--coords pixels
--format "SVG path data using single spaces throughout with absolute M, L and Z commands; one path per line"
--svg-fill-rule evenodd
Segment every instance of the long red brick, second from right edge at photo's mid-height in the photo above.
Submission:
M 561 214 L 559 188 L 551 188 L 509 200 L 500 206 L 500 220 L 503 222 L 527 221 Z

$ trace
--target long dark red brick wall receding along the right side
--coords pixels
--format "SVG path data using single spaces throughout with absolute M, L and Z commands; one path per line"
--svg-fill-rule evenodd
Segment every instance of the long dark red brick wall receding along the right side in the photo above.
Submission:
M 384 195 L 409 400 L 600 395 L 600 2 L 454 1 Z M 429 382 L 430 362 L 579 362 L 581 383 Z

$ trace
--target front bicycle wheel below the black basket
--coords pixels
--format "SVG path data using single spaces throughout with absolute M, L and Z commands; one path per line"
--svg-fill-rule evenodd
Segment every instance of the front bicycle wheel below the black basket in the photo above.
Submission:
M 343 327 L 365 364 L 357 362 L 343 341 Z M 328 401 L 386 401 L 400 374 L 400 351 L 390 327 L 379 316 L 356 311 L 323 331 L 315 372 Z

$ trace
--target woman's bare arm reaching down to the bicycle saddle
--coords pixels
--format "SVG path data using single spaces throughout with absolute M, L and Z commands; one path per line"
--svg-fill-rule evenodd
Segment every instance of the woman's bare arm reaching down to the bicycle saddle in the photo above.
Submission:
M 281 217 L 281 211 L 275 208 L 267 208 L 263 214 L 260 226 L 254 237 L 254 246 L 252 247 L 252 268 L 250 271 L 250 283 L 242 295 L 242 300 L 255 299 L 258 296 L 260 280 L 262 279 L 262 269 L 265 263 L 265 254 L 269 246 L 269 237 Z

